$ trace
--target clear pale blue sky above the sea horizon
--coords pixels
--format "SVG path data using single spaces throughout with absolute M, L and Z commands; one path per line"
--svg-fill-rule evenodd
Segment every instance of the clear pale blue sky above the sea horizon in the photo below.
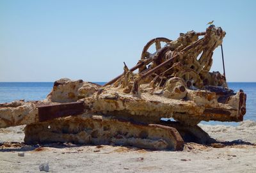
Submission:
M 106 82 L 140 59 L 147 41 L 205 31 L 227 35 L 229 82 L 256 81 L 256 1 L 0 1 L 0 81 L 62 77 Z M 221 52 L 212 70 L 222 73 Z

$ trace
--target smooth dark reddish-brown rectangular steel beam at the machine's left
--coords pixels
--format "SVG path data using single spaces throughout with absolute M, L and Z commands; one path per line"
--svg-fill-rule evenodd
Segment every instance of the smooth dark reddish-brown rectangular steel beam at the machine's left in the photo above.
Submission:
M 84 102 L 58 103 L 40 105 L 38 108 L 39 121 L 47 121 L 57 117 L 76 116 L 84 112 Z

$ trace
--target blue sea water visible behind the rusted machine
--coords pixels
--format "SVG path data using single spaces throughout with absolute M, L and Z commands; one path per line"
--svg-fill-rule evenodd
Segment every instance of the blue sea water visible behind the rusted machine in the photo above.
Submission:
M 103 85 L 106 82 L 95 82 Z M 53 82 L 0 82 L 0 103 L 12 102 L 14 100 L 43 100 L 50 93 Z M 246 114 L 244 120 L 256 121 L 256 82 L 228 82 L 228 87 L 234 91 L 243 89 L 247 94 Z M 223 124 L 238 126 L 239 123 L 202 121 L 202 124 Z

